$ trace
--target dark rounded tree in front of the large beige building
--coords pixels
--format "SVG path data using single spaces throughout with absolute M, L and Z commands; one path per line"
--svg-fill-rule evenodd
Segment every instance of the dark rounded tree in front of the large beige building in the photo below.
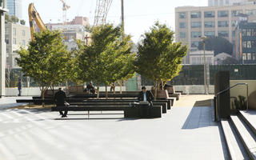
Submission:
M 198 50 L 203 50 L 202 42 L 199 42 Z M 231 55 L 233 54 L 233 45 L 226 38 L 210 37 L 206 38 L 206 50 L 214 50 L 214 55 L 222 52 Z

